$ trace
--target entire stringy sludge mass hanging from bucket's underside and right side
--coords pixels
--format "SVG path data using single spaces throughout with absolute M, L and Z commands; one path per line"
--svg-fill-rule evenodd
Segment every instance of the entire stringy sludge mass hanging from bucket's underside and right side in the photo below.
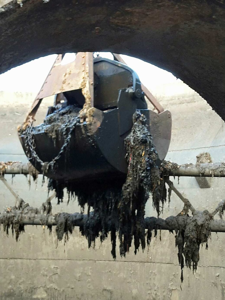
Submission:
M 145 248 L 145 205 L 150 193 L 153 205 L 158 215 L 160 203 L 166 200 L 166 188 L 160 177 L 157 166 L 157 153 L 152 143 L 152 136 L 146 128 L 146 118 L 140 112 L 133 116 L 131 133 L 125 139 L 127 150 L 128 175 L 123 181 L 112 179 L 112 182 L 95 181 L 87 184 L 61 184 L 49 180 L 49 189 L 55 190 L 57 197 L 63 198 L 63 189 L 67 188 L 69 195 L 77 196 L 79 205 L 84 209 L 88 206 L 88 218 L 80 231 L 88 239 L 88 247 L 95 242 L 96 237 L 101 241 L 107 238 L 109 232 L 112 242 L 112 255 L 116 258 L 116 232 L 119 232 L 120 255 L 125 256 L 134 238 L 135 253 L 140 247 Z M 91 209 L 93 212 L 90 213 Z M 57 229 L 59 239 L 62 233 L 68 236 L 71 228 L 66 221 L 63 230 Z

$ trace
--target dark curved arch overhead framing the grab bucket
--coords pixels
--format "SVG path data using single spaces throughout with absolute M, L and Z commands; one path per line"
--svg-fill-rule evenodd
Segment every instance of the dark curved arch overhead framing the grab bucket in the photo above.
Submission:
M 123 53 L 172 72 L 225 120 L 224 0 L 6 1 L 0 73 L 52 53 Z

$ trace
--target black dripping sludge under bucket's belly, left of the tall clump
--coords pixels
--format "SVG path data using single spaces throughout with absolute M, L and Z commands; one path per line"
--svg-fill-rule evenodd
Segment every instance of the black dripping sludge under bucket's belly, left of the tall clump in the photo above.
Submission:
M 79 187 L 67 186 L 67 190 L 77 196 L 82 210 L 88 206 L 87 219 L 80 226 L 80 232 L 88 240 L 88 247 L 94 243 L 97 237 L 104 241 L 109 233 L 111 235 L 113 258 L 116 258 L 116 231 L 119 230 L 118 205 L 122 197 L 122 183 L 113 179 L 111 183 L 95 182 L 90 185 L 79 185 Z M 91 211 L 91 209 L 93 211 Z

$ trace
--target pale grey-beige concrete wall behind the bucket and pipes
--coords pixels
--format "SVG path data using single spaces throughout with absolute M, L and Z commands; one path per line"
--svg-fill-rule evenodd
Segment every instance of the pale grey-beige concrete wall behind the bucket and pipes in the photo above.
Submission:
M 214 162 L 225 161 L 224 122 L 198 94 L 179 80 L 173 85 L 152 87 L 152 93 L 169 109 L 173 131 L 167 159 L 177 163 L 195 163 L 196 155 L 209 152 Z M 35 95 L 0 92 L 0 161 L 26 161 L 16 134 L 17 125 Z M 38 122 L 43 119 L 49 99 L 43 103 Z M 5 176 L 11 182 L 10 176 Z M 32 182 L 25 176 L 13 179 L 13 188 L 30 205 L 40 206 L 47 197 L 42 178 Z M 195 208 L 213 209 L 225 192 L 225 179 L 212 179 L 211 188 L 200 189 L 195 178 L 177 179 L 175 186 L 190 199 Z M 0 210 L 15 200 L 0 182 Z M 56 200 L 53 200 L 56 204 Z M 181 201 L 172 193 L 170 207 L 165 205 L 163 217 L 176 215 Z M 56 211 L 79 211 L 77 203 L 66 201 Z M 156 215 L 151 199 L 146 215 Z M 110 240 L 88 250 L 87 241 L 78 230 L 70 240 L 57 244 L 41 226 L 27 226 L 19 241 L 0 232 L 0 299 L 2 300 L 193 300 L 225 299 L 225 235 L 212 233 L 209 249 L 200 250 L 198 270 L 184 269 L 180 287 L 180 266 L 174 235 L 162 231 L 162 240 L 153 238 L 149 249 L 135 256 L 129 253 L 113 261 Z

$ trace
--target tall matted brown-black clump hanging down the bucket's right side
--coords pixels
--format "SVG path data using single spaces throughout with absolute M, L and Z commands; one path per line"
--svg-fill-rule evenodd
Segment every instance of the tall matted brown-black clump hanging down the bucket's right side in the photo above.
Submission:
M 134 236 L 135 253 L 140 244 L 145 248 L 145 205 L 152 192 L 153 205 L 158 215 L 160 202 L 166 199 L 165 184 L 161 182 L 160 170 L 156 165 L 157 153 L 152 136 L 146 128 L 146 117 L 136 112 L 133 115 L 131 133 L 125 139 L 128 174 L 122 187 L 119 202 L 120 254 L 125 256 Z

